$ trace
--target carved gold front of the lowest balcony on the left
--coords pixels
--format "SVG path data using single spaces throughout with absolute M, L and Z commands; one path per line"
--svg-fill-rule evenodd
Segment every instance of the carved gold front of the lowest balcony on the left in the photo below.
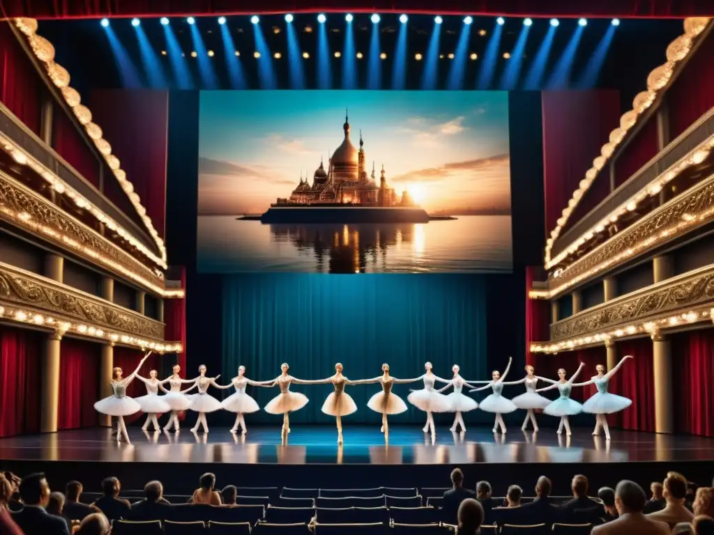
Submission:
M 164 340 L 164 324 L 80 290 L 0 263 L 0 302 L 32 307 L 72 322 Z

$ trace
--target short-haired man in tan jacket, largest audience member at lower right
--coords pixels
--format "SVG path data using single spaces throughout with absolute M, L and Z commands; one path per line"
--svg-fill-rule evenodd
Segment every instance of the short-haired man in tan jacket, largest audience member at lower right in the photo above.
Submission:
M 647 496 L 641 486 L 634 481 L 620 481 L 615 489 L 615 507 L 620 518 L 595 526 L 590 535 L 668 535 L 670 529 L 667 524 L 642 514 L 646 500 Z

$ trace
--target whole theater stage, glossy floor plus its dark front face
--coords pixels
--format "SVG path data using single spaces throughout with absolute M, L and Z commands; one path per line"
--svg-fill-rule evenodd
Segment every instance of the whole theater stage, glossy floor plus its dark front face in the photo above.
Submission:
M 459 434 L 440 428 L 432 444 L 417 426 L 393 426 L 385 444 L 378 427 L 346 426 L 345 444 L 338 447 L 331 426 L 296 425 L 285 445 L 280 427 L 250 427 L 245 437 L 218 427 L 208 435 L 182 429 L 178 436 L 130 427 L 131 444 L 117 443 L 109 429 L 92 428 L 0 439 L 0 461 L 18 474 L 44 471 L 55 488 L 81 479 L 90 491 L 116 475 L 127 489 L 161 479 L 172 494 L 190 494 L 209 471 L 219 486 L 423 487 L 448 486 L 451 467 L 458 466 L 468 486 L 488 479 L 497 492 L 514 483 L 531 489 L 545 474 L 555 494 L 568 494 L 576 473 L 588 475 L 593 487 L 623 478 L 648 485 L 672 469 L 701 483 L 714 476 L 714 439 L 615 429 L 608 442 L 590 432 L 579 428 L 565 437 L 553 429 L 534 435 L 513 428 L 495 437 L 483 427 Z

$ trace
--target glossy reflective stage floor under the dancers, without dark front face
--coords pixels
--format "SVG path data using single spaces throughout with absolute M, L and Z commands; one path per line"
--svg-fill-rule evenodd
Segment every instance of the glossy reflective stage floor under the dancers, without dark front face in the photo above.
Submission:
M 575 429 L 572 437 L 542 429 L 466 433 L 438 429 L 436 441 L 416 426 L 394 426 L 389 442 L 378 427 L 346 426 L 338 446 L 331 426 L 294 426 L 288 444 L 279 427 L 251 427 L 233 435 L 226 428 L 206 434 L 142 432 L 131 427 L 131 444 L 116 442 L 109 429 L 91 428 L 0 439 L 2 462 L 141 462 L 226 464 L 512 464 L 714 461 L 714 439 L 654 433 L 611 432 L 612 440 Z

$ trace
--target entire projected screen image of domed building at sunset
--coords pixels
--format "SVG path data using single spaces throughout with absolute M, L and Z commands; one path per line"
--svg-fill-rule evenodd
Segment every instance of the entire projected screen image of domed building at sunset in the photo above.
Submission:
M 508 93 L 203 91 L 201 272 L 509 272 Z

